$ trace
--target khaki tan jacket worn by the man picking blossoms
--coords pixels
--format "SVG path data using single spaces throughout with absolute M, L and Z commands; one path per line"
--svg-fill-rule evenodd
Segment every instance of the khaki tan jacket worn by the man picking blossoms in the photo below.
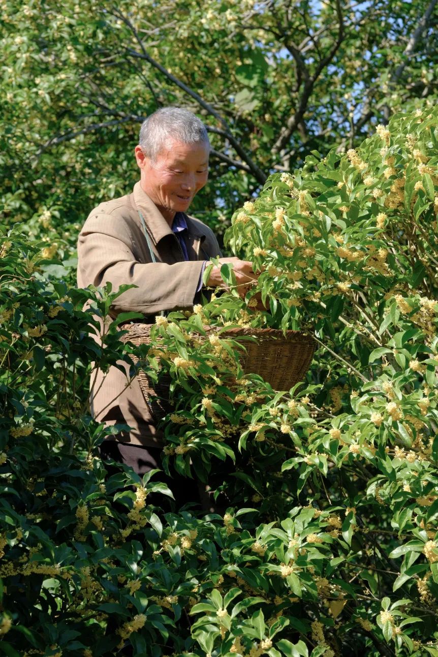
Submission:
M 138 210 L 144 217 L 156 258 L 150 257 Z M 77 243 L 77 285 L 104 286 L 112 289 L 122 284 L 135 284 L 114 302 L 111 315 L 137 311 L 154 315 L 162 310 L 190 309 L 202 263 L 221 254 L 217 240 L 202 221 L 185 215 L 188 226 L 186 240 L 188 258 L 184 261 L 181 246 L 156 205 L 137 183 L 132 194 L 101 203 L 91 211 L 79 233 Z M 137 379 L 127 384 L 125 372 L 110 367 L 106 374 L 93 376 L 91 413 L 106 425 L 127 424 L 129 433 L 118 434 L 116 440 L 135 445 L 159 446 L 160 433 L 141 392 Z

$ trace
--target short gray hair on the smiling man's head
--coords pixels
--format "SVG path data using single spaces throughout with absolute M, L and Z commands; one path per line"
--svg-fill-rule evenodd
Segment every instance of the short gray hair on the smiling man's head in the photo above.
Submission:
M 197 116 L 181 107 L 162 107 L 150 114 L 140 128 L 139 145 L 152 162 L 168 139 L 183 144 L 210 145 L 205 125 Z

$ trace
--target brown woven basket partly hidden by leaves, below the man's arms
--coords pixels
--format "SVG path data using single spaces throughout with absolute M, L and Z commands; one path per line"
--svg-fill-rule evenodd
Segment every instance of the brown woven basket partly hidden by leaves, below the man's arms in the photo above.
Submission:
M 135 345 L 150 342 L 149 324 L 131 324 L 122 328 L 128 330 L 121 336 L 123 342 Z M 301 381 L 315 352 L 315 341 L 301 331 L 289 330 L 284 334 L 275 328 L 229 328 L 222 331 L 219 337 L 239 342 L 242 345 L 242 370 L 246 374 L 259 374 L 271 384 L 273 390 L 289 390 Z M 141 370 L 137 378 L 154 417 L 162 419 L 172 410 L 168 401 L 171 377 L 162 373 L 157 384 Z

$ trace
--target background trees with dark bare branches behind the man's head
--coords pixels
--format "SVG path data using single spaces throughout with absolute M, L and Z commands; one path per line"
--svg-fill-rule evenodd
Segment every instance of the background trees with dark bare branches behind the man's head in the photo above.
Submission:
M 213 143 L 194 212 L 220 232 L 272 171 L 353 147 L 436 99 L 437 0 L 67 0 L 3 7 L 1 154 L 9 222 L 53 248 L 137 177 L 141 120 L 181 104 Z

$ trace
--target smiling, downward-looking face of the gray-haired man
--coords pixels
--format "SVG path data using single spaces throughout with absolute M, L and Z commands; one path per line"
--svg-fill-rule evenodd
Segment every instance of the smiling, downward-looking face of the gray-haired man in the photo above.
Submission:
M 139 148 L 139 147 L 137 147 Z M 139 152 L 136 149 L 137 163 Z M 142 189 L 161 210 L 165 219 L 186 212 L 192 199 L 208 179 L 209 148 L 205 143 L 183 144 L 169 139 L 155 162 L 142 161 Z

